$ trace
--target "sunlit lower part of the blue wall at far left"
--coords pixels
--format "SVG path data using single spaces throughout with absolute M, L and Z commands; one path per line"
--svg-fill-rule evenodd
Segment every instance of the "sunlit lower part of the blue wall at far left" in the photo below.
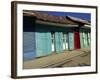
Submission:
M 35 46 L 35 33 L 24 32 L 23 35 L 23 53 L 24 60 L 33 59 L 36 57 L 36 46 Z

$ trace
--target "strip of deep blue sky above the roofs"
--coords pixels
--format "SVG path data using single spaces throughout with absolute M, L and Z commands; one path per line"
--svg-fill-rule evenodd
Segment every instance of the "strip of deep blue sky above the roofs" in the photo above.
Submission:
M 74 13 L 74 12 L 47 12 L 48 14 L 51 15 L 56 15 L 56 16 L 73 16 L 73 17 L 77 17 L 77 18 L 81 18 L 84 20 L 91 20 L 91 14 L 90 13 Z

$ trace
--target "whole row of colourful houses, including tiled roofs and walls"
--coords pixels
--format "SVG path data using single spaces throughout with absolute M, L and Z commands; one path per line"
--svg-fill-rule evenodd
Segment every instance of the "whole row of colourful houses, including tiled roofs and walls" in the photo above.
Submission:
M 24 11 L 24 60 L 90 47 L 90 31 L 90 23 L 86 20 Z

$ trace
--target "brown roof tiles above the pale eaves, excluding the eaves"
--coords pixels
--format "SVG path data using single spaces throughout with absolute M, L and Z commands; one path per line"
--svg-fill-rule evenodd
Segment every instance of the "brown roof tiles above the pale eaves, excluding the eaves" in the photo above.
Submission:
M 71 25 L 78 25 L 78 24 L 88 24 L 90 23 L 86 20 L 72 17 L 72 16 L 54 16 L 44 12 L 38 11 L 24 11 L 24 16 L 34 16 L 36 19 L 46 22 L 53 22 L 53 23 L 61 23 L 61 24 L 71 24 Z

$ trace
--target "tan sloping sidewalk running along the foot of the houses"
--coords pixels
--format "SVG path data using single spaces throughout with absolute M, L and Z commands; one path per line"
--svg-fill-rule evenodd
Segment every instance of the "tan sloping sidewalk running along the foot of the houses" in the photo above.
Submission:
M 64 51 L 63 53 L 52 54 L 34 60 L 24 61 L 23 68 L 34 69 L 34 68 L 56 67 L 66 62 L 70 62 L 71 59 L 73 59 L 74 57 L 85 56 L 89 53 L 90 53 L 90 48 L 78 49 L 73 51 Z

